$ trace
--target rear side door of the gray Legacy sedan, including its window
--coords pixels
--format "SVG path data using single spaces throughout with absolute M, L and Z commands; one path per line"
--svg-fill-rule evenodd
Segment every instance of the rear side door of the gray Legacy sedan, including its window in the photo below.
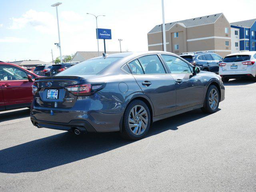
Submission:
M 155 116 L 173 112 L 176 106 L 174 80 L 157 54 L 142 56 L 128 63 L 132 74 L 153 103 Z

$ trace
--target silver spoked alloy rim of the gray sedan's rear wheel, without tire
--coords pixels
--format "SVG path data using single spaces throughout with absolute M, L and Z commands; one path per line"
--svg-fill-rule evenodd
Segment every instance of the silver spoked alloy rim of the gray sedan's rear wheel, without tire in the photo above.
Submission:
M 148 113 L 142 105 L 134 106 L 129 113 L 128 124 L 131 132 L 135 135 L 144 133 L 148 126 Z

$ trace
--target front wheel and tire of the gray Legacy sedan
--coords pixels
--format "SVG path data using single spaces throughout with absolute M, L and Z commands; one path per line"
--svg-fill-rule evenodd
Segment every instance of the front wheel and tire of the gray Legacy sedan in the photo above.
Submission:
M 216 97 L 217 94 L 217 97 Z M 218 102 L 218 103 L 217 103 Z M 215 85 L 210 85 L 206 92 L 204 106 L 201 110 L 205 113 L 215 113 L 220 103 L 220 92 Z

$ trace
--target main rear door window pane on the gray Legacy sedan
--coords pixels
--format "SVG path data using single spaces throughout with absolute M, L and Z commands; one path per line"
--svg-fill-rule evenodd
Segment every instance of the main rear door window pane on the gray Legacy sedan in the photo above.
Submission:
M 157 55 L 147 55 L 138 58 L 145 74 L 164 74 L 164 66 Z

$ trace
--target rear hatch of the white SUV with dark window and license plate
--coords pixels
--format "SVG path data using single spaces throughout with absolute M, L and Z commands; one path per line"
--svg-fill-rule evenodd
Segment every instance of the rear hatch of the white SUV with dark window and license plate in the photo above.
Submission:
M 226 63 L 225 66 L 222 66 L 223 71 L 244 71 L 247 69 L 247 65 L 243 65 L 242 62 L 249 61 L 251 58 L 250 55 L 232 55 L 226 56 L 222 63 Z

